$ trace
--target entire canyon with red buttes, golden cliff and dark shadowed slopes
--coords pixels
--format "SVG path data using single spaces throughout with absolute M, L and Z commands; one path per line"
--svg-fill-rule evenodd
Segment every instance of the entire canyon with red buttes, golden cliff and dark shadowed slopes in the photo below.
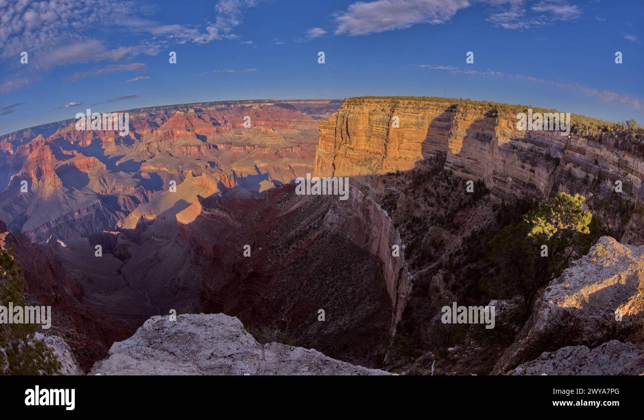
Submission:
M 14 246 L 24 266 L 26 296 L 52 304 L 54 320 L 64 320 L 52 334 L 85 372 L 118 373 L 126 359 L 128 372 L 271 369 L 261 358 L 242 370 L 194 367 L 164 349 L 161 359 L 149 358 L 138 347 L 173 334 L 178 327 L 164 321 L 172 310 L 198 334 L 211 315 L 196 314 L 234 316 L 216 322 L 245 340 L 236 323 L 260 343 L 283 343 L 272 348 L 281 356 L 270 357 L 289 359 L 292 346 L 315 348 L 402 374 L 430 374 L 432 360 L 436 374 L 554 372 L 544 362 L 551 356 L 538 359 L 544 352 L 578 364 L 606 349 L 624 348 L 629 363 L 641 357 L 641 288 L 615 298 L 630 302 L 627 328 L 607 325 L 593 339 L 562 334 L 545 345 L 531 325 L 547 318 L 539 315 L 545 296 L 563 280 L 543 292 L 526 323 L 513 314 L 526 303 L 489 284 L 486 249 L 511 206 L 562 192 L 585 196 L 612 236 L 596 245 L 611 249 L 607 256 L 574 263 L 581 271 L 600 259 L 600 276 L 562 278 L 573 276 L 587 291 L 603 290 L 607 278 L 639 276 L 641 262 L 627 255 L 644 245 L 644 159 L 620 148 L 612 133 L 521 131 L 503 107 L 444 98 L 229 101 L 128 112 L 126 137 L 76 131 L 72 121 L 0 137 L 1 243 Z M 294 180 L 307 173 L 350 177 L 348 199 L 297 195 Z M 576 322 L 607 317 L 575 299 L 582 301 Z M 444 304 L 492 300 L 507 309 L 488 335 L 440 323 Z M 249 351 L 257 352 L 251 341 Z M 288 369 L 282 372 L 297 373 Z M 334 369 L 324 372 L 344 372 Z

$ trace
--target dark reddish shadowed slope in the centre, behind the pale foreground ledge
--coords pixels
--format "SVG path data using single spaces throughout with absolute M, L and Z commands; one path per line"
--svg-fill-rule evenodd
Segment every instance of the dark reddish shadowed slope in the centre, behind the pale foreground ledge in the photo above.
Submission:
M 296 195 L 290 185 L 261 199 L 200 200 L 199 214 L 179 232 L 200 267 L 202 310 L 277 330 L 334 358 L 376 365 L 394 312 L 383 261 L 363 240 L 386 231 L 386 218 L 365 202 L 373 213 L 355 217 L 349 230 L 325 222 L 354 216 L 360 205 Z

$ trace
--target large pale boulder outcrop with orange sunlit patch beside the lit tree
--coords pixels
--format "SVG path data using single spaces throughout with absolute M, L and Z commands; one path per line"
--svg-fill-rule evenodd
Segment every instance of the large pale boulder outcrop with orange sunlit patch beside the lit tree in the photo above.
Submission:
M 544 351 L 598 347 L 643 330 L 644 247 L 603 236 L 545 289 L 493 373 L 507 372 Z

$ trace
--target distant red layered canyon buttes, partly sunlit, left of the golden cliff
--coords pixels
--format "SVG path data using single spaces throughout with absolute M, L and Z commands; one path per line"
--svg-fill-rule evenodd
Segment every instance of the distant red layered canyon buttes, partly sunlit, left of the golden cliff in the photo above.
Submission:
M 290 182 L 312 171 L 317 119 L 337 106 L 331 100 L 161 106 L 126 111 L 124 137 L 79 131 L 70 120 L 1 136 L 0 219 L 32 240 L 78 238 L 136 225 L 130 214 L 170 181 L 234 177 L 249 190 Z M 183 205 L 175 199 L 173 205 Z

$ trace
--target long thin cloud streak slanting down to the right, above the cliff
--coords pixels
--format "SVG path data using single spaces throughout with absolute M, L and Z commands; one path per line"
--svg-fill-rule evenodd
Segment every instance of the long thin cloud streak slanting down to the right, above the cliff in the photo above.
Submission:
M 433 64 L 410 64 L 410 66 L 417 67 L 417 68 L 426 68 L 429 70 L 440 70 L 440 71 L 449 72 L 453 74 L 493 76 L 493 77 L 502 77 L 502 78 L 508 78 L 508 79 L 518 79 L 518 80 L 529 81 L 529 82 L 543 83 L 543 84 L 548 84 L 549 86 L 555 86 L 557 88 L 565 88 L 565 89 L 580 91 L 582 93 L 585 93 L 585 95 L 603 100 L 604 102 L 608 102 L 611 104 L 619 103 L 619 104 L 628 106 L 629 108 L 633 108 L 634 110 L 638 110 L 638 111 L 644 110 L 644 99 L 634 98 L 632 97 L 632 95 L 629 95 L 626 93 L 618 93 L 618 92 L 605 90 L 605 89 L 600 90 L 596 88 L 589 88 L 588 86 L 583 86 L 582 84 L 578 84 L 578 83 L 553 82 L 553 81 L 548 81 L 545 79 L 540 79 L 538 77 L 523 75 L 523 74 L 493 72 L 489 70 L 480 71 L 480 70 L 473 70 L 469 68 L 461 69 L 454 66 L 442 66 L 442 65 L 433 65 Z

